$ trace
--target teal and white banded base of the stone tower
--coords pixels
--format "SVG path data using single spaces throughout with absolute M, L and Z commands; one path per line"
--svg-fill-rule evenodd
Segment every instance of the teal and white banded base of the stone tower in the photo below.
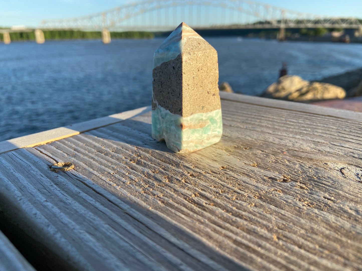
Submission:
M 161 106 L 152 109 L 152 137 L 165 140 L 174 152 L 192 152 L 220 141 L 223 133 L 221 109 L 188 117 Z

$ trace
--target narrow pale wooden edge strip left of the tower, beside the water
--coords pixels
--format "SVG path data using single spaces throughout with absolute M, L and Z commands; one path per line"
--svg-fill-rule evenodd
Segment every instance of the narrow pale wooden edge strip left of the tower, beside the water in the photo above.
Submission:
M 151 110 L 151 107 L 141 107 L 138 109 L 125 111 L 118 114 L 101 117 L 94 120 L 84 121 L 66 127 L 59 127 L 44 132 L 30 134 L 28 136 L 17 137 L 0 142 L 0 153 L 12 151 L 24 147 L 33 147 L 37 145 L 46 144 L 52 141 L 60 140 L 66 137 L 71 137 L 76 134 L 84 133 L 86 131 L 103 127 L 106 125 L 114 124 L 138 114 L 145 113 Z

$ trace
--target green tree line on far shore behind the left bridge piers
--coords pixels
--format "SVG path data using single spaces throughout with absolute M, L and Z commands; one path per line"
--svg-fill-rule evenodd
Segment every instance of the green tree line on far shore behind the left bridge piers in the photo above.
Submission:
M 99 31 L 80 31 L 80 30 L 49 30 L 43 31 L 44 38 L 47 39 L 100 39 Z M 110 32 L 111 38 L 114 39 L 152 39 L 155 35 L 147 31 L 125 31 Z M 0 33 L 0 39 L 4 36 Z M 10 40 L 35 40 L 34 32 L 15 32 L 10 33 Z

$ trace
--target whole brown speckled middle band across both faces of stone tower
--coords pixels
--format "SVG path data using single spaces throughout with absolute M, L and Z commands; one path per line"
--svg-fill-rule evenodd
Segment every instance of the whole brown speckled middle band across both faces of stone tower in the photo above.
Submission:
M 188 117 L 221 108 L 218 55 L 203 39 L 188 38 L 183 53 L 155 67 L 152 75 L 153 98 L 173 114 Z

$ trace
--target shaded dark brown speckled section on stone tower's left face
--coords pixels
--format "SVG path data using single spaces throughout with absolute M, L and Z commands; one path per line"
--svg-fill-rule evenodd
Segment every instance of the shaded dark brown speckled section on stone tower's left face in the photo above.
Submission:
M 182 57 L 162 63 L 152 70 L 153 98 L 160 106 L 182 116 Z M 157 105 L 152 99 L 152 109 Z

